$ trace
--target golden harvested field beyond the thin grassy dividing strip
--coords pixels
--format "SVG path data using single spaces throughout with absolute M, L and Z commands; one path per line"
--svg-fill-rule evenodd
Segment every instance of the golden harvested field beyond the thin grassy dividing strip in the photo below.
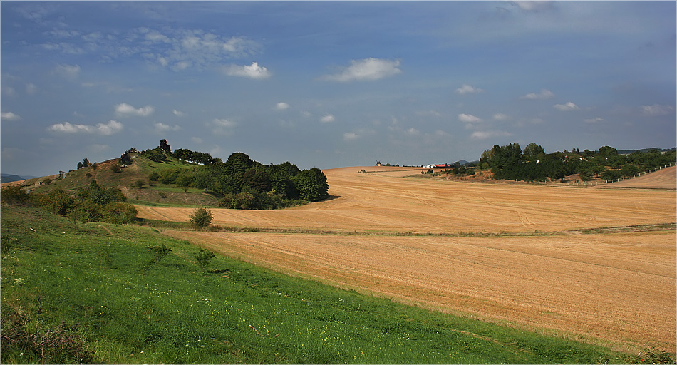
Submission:
M 373 169 L 373 168 L 372 168 Z M 673 191 L 464 183 L 420 169 L 326 170 L 333 199 L 288 210 L 212 210 L 215 225 L 353 232 L 534 232 L 674 223 Z M 139 217 L 187 222 L 192 209 L 139 206 Z

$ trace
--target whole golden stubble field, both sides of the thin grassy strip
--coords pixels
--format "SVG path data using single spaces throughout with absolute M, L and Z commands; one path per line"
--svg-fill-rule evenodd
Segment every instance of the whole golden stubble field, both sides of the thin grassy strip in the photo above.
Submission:
M 167 234 L 410 304 L 675 351 L 676 232 L 582 232 L 674 224 L 675 190 L 462 183 L 419 178 L 420 169 L 361 169 L 326 170 L 333 198 L 325 202 L 212 209 L 215 225 L 307 233 Z M 138 209 L 140 217 L 178 221 L 192 212 Z

